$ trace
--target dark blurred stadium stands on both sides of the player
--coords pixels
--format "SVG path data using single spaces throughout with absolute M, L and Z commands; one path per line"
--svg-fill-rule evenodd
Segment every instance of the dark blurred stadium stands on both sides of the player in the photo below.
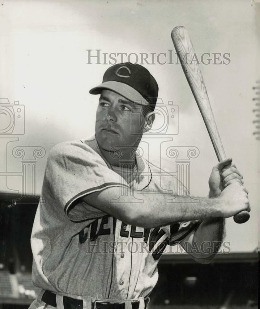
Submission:
M 30 235 L 37 200 L 0 194 L 0 308 L 29 307 L 40 291 L 32 285 Z M 219 253 L 209 265 L 185 254 L 165 253 L 150 309 L 258 308 L 258 250 Z

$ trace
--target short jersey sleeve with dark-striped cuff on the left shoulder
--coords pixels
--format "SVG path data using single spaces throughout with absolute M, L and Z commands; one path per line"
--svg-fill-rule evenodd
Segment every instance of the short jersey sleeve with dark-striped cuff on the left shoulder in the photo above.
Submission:
M 101 156 L 80 142 L 62 142 L 50 151 L 44 177 L 55 207 L 63 208 L 71 221 L 80 222 L 105 215 L 85 203 L 81 197 L 109 187 L 129 187 L 109 169 Z

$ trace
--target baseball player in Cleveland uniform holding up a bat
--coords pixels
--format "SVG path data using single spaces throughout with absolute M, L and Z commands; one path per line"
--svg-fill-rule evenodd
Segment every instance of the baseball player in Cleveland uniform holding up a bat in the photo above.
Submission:
M 167 245 L 209 263 L 224 218 L 249 209 L 232 159 L 213 167 L 209 197 L 168 203 L 175 179 L 148 162 L 139 141 L 154 121 L 158 85 L 138 64 L 111 66 L 98 94 L 96 134 L 52 148 L 31 237 L 30 309 L 144 309 Z M 185 188 L 182 188 L 185 190 Z M 201 248 L 207 241 L 207 251 Z

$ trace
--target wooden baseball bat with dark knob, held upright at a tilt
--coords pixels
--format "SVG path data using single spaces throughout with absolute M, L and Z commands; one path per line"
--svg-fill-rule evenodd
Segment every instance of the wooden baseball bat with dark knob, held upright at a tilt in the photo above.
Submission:
M 219 161 L 224 160 L 226 155 L 213 116 L 205 83 L 196 58 L 194 58 L 195 52 L 188 31 L 183 26 L 177 26 L 173 28 L 171 35 L 183 72 L 205 122 L 217 158 Z M 233 218 L 236 223 L 244 223 L 249 217 L 249 212 L 244 210 L 234 215 Z

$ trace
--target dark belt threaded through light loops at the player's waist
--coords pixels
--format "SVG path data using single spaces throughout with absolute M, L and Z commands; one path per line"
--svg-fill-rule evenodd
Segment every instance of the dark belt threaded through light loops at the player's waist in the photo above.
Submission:
M 56 294 L 52 293 L 50 291 L 45 291 L 42 295 L 41 300 L 45 302 L 46 304 L 56 307 Z M 146 298 L 144 300 L 144 307 L 147 307 L 149 298 Z M 132 309 L 138 309 L 139 308 L 139 301 L 138 302 L 132 302 Z M 63 296 L 63 306 L 64 309 L 83 309 L 83 300 L 82 299 L 76 299 L 69 296 Z M 96 301 L 95 303 L 91 303 L 92 309 L 125 309 L 125 303 L 109 303 L 108 301 Z

